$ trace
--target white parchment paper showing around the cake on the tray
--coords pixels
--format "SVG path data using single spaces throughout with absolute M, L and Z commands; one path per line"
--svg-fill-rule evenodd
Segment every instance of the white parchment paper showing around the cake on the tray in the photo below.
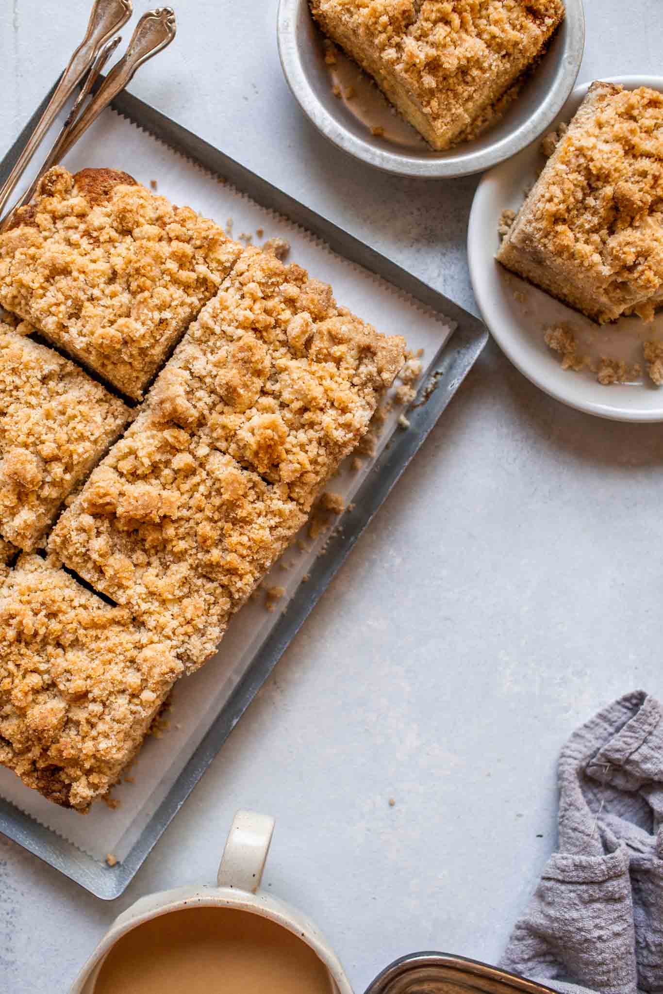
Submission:
M 440 319 L 391 284 L 335 254 L 319 239 L 258 206 L 112 111 L 93 125 L 65 165 L 72 171 L 84 166 L 122 169 L 145 186 L 156 180 L 158 193 L 176 204 L 190 205 L 224 228 L 230 221 L 229 234 L 236 239 L 250 235 L 253 245 L 268 238 L 285 239 L 291 247 L 288 260 L 296 260 L 312 275 L 330 282 L 339 303 L 382 332 L 404 335 L 413 351 L 422 349 L 424 373 L 452 331 L 451 321 Z M 256 234 L 258 230 L 261 236 Z M 403 408 L 395 405 L 387 414 L 376 455 L 390 435 L 401 430 L 398 420 L 402 413 Z M 351 502 L 374 461 L 375 456 L 364 457 L 359 471 L 350 465 L 343 467 L 328 489 L 341 494 L 346 504 Z M 329 527 L 337 524 L 338 518 L 332 518 Z M 122 781 L 113 789 L 112 797 L 119 801 L 116 808 L 100 801 L 86 815 L 59 808 L 4 768 L 0 768 L 0 794 L 93 858 L 101 861 L 113 853 L 122 860 L 246 672 L 289 597 L 320 555 L 325 540 L 325 533 L 313 540 L 304 530 L 300 542 L 284 553 L 263 584 L 284 587 L 274 609 L 266 609 L 264 591 L 258 592 L 233 618 L 217 655 L 198 673 L 180 680 L 173 693 L 169 728 L 161 738 L 147 740 L 131 768 L 133 782 Z

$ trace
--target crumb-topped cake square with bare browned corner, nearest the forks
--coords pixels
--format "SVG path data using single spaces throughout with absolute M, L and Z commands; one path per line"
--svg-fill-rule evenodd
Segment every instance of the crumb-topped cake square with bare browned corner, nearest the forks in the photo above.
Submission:
M 139 399 L 241 250 L 126 173 L 56 166 L 0 236 L 0 304 Z

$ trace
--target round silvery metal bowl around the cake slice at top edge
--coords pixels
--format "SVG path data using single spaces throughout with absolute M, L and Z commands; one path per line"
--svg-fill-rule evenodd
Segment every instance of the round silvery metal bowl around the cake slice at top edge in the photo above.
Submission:
M 278 52 L 290 89 L 307 117 L 330 141 L 357 159 L 401 176 L 446 179 L 503 162 L 548 130 L 574 88 L 584 48 L 582 0 L 565 0 L 567 16 L 541 63 L 504 116 L 472 141 L 435 152 L 392 109 L 350 59 L 324 59 L 323 35 L 308 0 L 280 0 Z M 352 87 L 354 96 L 337 97 Z M 374 134 L 372 128 L 384 128 Z

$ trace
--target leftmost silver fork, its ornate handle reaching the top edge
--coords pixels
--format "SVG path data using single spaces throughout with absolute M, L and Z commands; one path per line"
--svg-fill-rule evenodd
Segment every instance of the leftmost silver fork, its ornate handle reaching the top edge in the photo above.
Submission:
M 58 83 L 39 124 L 30 136 L 29 141 L 16 161 L 16 165 L 0 189 L 0 217 L 16 184 L 21 179 L 21 176 L 23 176 L 46 132 L 67 103 L 67 100 L 77 85 L 81 83 L 85 73 L 93 65 L 102 46 L 129 20 L 131 10 L 131 0 L 94 0 L 83 41 L 70 59 L 69 65 L 63 73 L 60 83 Z

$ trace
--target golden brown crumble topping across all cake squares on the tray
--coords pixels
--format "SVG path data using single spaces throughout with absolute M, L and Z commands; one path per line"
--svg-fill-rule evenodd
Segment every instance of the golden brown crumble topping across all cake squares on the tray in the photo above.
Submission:
M 26 509 L 43 532 L 67 506 L 47 562 L 10 570 L 0 539 L 0 761 L 58 803 L 117 803 L 107 790 L 167 724 L 173 681 L 214 653 L 404 362 L 403 339 L 270 242 L 241 252 L 126 174 L 61 168 L 0 239 L 0 300 L 133 396 L 242 254 L 84 484 L 128 410 L 27 323 L 0 329 L 0 530 L 5 478 L 22 488 L 25 547 Z

